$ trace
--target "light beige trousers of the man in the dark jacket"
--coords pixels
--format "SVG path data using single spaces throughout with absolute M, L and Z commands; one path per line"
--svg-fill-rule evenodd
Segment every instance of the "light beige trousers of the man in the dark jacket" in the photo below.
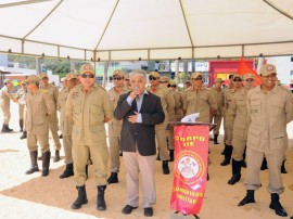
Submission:
M 143 208 L 152 207 L 156 203 L 155 192 L 155 155 L 141 156 L 135 152 L 123 152 L 126 183 L 127 205 L 137 207 L 139 205 L 139 173 L 143 193 Z

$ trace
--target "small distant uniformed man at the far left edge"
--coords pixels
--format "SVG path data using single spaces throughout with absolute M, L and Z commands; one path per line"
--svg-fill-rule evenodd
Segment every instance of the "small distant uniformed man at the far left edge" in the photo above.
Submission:
M 1 132 L 11 132 L 13 129 L 9 128 L 10 121 L 10 100 L 17 102 L 17 100 L 10 93 L 12 91 L 13 85 L 10 79 L 4 80 L 4 86 L 0 90 L 0 106 L 3 113 L 3 126 Z

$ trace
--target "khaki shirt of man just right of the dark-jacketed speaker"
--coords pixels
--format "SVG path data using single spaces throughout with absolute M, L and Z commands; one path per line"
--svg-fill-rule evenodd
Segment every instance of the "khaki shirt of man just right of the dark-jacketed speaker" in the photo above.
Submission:
M 156 127 L 164 127 L 169 121 L 168 113 L 174 111 L 175 100 L 170 91 L 165 86 L 162 85 L 160 85 L 155 90 L 150 87 L 148 91 L 154 93 L 161 99 L 162 107 L 165 114 L 165 120 L 163 124 L 156 125 Z

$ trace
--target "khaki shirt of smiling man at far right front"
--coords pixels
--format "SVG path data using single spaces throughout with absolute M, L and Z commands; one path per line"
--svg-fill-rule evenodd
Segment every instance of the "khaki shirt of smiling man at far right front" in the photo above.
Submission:
M 250 118 L 247 146 L 265 153 L 286 147 L 286 124 L 292 120 L 291 94 L 275 86 L 267 93 L 260 86 L 247 94 Z

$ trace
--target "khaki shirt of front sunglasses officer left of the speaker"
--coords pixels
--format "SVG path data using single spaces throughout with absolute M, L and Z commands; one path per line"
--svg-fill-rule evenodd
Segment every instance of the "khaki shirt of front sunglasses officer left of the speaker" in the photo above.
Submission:
M 73 142 L 93 145 L 106 138 L 104 118 L 113 118 L 113 111 L 104 88 L 93 85 L 86 93 L 79 85 L 69 92 L 65 107 L 74 120 Z

